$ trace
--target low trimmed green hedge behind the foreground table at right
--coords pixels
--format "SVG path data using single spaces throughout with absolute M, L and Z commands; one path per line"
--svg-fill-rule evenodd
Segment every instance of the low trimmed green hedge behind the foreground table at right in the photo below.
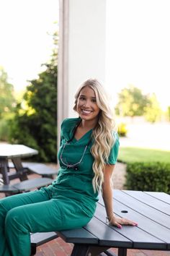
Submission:
M 128 163 L 125 187 L 170 194 L 170 163 Z

